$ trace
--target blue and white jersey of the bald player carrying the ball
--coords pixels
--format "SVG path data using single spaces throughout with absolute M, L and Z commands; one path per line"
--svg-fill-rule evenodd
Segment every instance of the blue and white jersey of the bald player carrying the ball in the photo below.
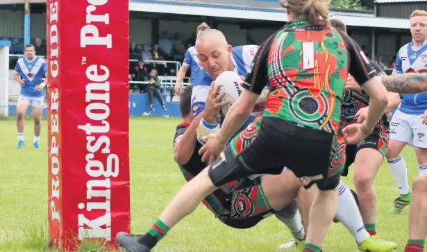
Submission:
M 251 71 L 252 61 L 253 58 L 255 58 L 258 48 L 259 46 L 257 45 L 233 47 L 233 72 L 246 77 Z M 203 73 L 204 76 L 201 78 L 201 82 L 195 85 L 192 90 L 192 113 L 194 116 L 199 115 L 199 113 L 205 109 L 205 102 L 208 98 L 209 87 L 213 81 L 204 69 Z

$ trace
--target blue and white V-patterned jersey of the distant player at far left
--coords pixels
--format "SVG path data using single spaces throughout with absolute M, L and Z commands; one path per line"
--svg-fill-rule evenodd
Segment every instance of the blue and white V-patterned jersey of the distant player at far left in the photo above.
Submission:
M 43 77 L 47 75 L 47 64 L 44 58 L 35 56 L 33 60 L 26 57 L 19 58 L 14 70 L 19 74 L 25 85 L 21 87 L 21 94 L 27 97 L 41 97 L 42 91 L 36 91 L 35 87 L 42 84 Z

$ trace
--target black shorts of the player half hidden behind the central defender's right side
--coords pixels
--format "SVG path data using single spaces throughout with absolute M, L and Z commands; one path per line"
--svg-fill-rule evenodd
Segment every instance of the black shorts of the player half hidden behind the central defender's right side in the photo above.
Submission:
M 376 149 L 383 157 L 385 157 L 385 151 L 389 141 L 389 128 L 381 128 L 374 132 L 372 135 L 368 135 L 365 140 L 358 142 L 357 144 L 348 144 L 346 146 L 346 164 L 342 176 L 346 177 L 349 175 L 349 167 L 353 165 L 355 156 L 361 149 L 369 148 Z

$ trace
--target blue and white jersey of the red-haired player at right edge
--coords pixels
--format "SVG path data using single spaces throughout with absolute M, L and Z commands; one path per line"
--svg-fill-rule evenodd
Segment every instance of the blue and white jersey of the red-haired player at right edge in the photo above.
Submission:
M 396 55 L 396 74 L 415 73 L 427 67 L 427 40 L 422 47 L 414 47 L 412 42 L 405 44 Z M 427 92 L 419 94 L 402 94 L 399 110 L 409 115 L 421 115 L 427 110 Z

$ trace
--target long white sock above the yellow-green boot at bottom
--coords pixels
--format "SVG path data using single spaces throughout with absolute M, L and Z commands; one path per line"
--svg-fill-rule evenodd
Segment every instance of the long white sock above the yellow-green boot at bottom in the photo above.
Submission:
M 369 237 L 353 194 L 342 181 L 338 185 L 338 206 L 335 219 L 349 230 L 359 245 Z

